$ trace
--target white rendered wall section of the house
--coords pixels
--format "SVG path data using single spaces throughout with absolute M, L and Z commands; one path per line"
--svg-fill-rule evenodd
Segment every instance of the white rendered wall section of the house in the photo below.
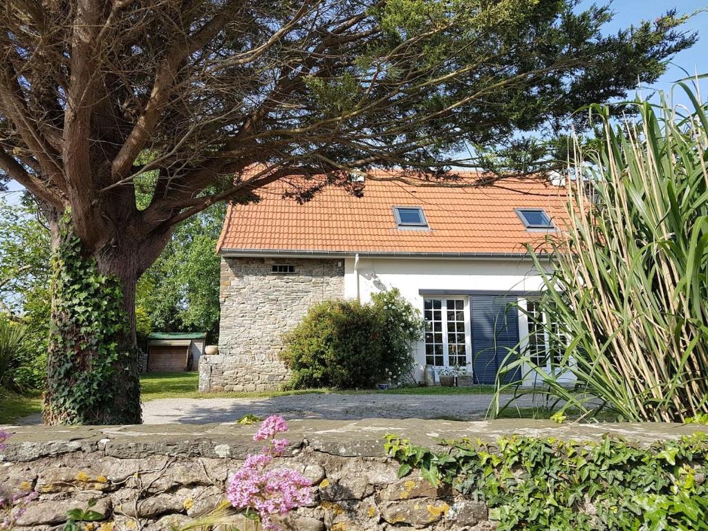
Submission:
M 344 296 L 368 302 L 372 293 L 398 288 L 414 307 L 423 312 L 419 290 L 539 291 L 543 282 L 530 260 L 451 259 L 451 258 L 354 258 L 344 266 Z M 425 365 L 423 343 L 416 348 L 418 380 Z

